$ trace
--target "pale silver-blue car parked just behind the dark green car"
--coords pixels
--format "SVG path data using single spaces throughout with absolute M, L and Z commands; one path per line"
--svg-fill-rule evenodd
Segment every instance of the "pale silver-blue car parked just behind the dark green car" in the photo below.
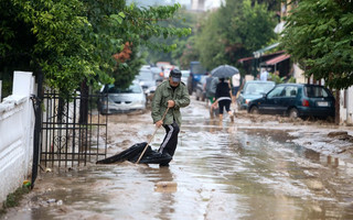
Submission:
M 236 99 L 238 110 L 246 110 L 249 101 L 261 98 L 264 94 L 267 94 L 275 86 L 274 81 L 246 81 Z

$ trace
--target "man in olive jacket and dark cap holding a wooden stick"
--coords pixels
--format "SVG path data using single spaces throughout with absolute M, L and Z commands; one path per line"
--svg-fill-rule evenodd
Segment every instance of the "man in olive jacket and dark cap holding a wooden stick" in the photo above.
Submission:
M 165 129 L 165 136 L 158 152 L 169 154 L 173 157 L 176 144 L 178 134 L 181 125 L 180 108 L 186 107 L 190 103 L 188 88 L 181 81 L 181 72 L 172 69 L 169 75 L 169 80 L 161 82 L 154 92 L 152 100 L 152 119 L 156 127 L 161 125 Z M 169 108 L 164 120 L 162 120 L 165 110 Z M 169 164 L 160 164 L 168 166 Z

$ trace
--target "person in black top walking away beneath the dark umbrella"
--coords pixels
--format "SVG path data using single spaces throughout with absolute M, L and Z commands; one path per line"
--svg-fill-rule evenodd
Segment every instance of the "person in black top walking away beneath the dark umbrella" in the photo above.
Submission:
M 231 90 L 229 84 L 226 82 L 224 78 L 220 78 L 220 82 L 217 84 L 217 88 L 216 88 L 215 98 L 216 98 L 216 101 L 213 103 L 213 106 L 218 105 L 220 121 L 223 120 L 223 111 L 225 108 L 225 110 L 231 117 L 231 121 L 234 122 L 234 114 L 231 111 L 232 90 Z

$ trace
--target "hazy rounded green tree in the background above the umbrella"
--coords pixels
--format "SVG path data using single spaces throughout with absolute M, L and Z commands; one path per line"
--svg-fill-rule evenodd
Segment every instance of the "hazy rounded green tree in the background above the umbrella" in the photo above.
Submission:
M 202 64 L 212 69 L 236 61 L 276 37 L 274 12 L 250 0 L 226 1 L 207 16 L 197 34 L 196 47 Z

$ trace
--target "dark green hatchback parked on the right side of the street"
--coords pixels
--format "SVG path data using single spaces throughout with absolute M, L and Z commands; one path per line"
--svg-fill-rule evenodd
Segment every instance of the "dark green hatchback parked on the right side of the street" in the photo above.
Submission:
M 323 86 L 280 84 L 248 103 L 250 113 L 286 114 L 290 118 L 334 117 L 334 97 Z

